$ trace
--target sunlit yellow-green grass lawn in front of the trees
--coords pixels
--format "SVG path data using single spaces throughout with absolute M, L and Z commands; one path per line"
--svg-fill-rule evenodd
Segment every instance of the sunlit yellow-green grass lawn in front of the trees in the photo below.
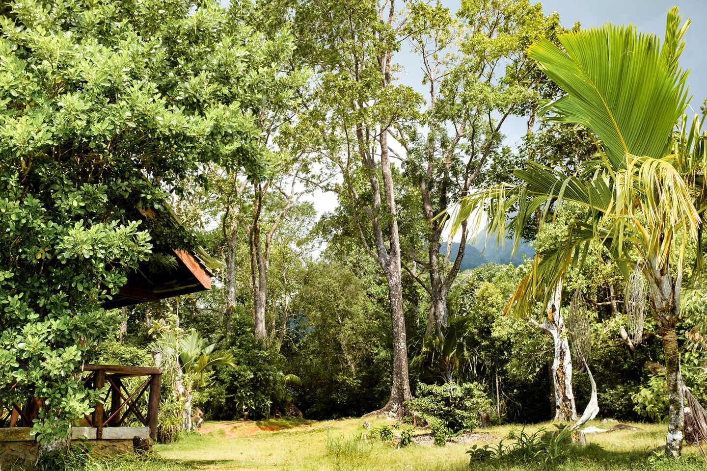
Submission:
M 370 420 L 373 427 L 395 422 Z M 156 446 L 157 457 L 127 458 L 96 465 L 115 471 L 256 471 L 256 470 L 346 470 L 346 471 L 455 471 L 469 470 L 464 452 L 470 443 L 448 443 L 445 447 L 412 445 L 396 449 L 393 442 L 361 439 L 367 432 L 363 419 L 309 422 L 271 419 L 262 422 L 209 422 L 199 434 L 170 445 Z M 610 428 L 612 423 L 595 422 Z M 650 451 L 665 443 L 665 425 L 633 424 L 639 431 L 612 431 L 588 435 L 588 445 L 575 448 L 558 470 L 704 470 L 707 465 L 699 450 L 690 446 L 679 462 L 651 459 Z M 543 424 L 525 426 L 534 431 Z M 551 424 L 544 424 L 552 428 Z M 477 443 L 498 443 L 518 426 L 501 426 L 481 431 Z M 420 432 L 416 432 L 420 433 Z M 539 465 L 518 465 L 491 460 L 472 470 L 532 470 Z

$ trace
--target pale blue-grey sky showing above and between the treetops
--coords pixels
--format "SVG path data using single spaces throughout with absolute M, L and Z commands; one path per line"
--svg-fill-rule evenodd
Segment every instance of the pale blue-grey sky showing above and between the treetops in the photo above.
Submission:
M 665 16 L 672 6 L 679 6 L 684 18 L 691 19 L 691 26 L 685 35 L 685 49 L 681 56 L 682 68 L 690 68 L 687 83 L 690 93 L 694 95 L 688 113 L 699 112 L 701 103 L 707 98 L 707 60 L 704 48 L 707 42 L 707 0 L 544 0 L 543 10 L 546 14 L 557 11 L 562 25 L 571 28 L 579 21 L 583 28 L 604 25 L 633 23 L 638 31 L 653 32 L 660 37 L 665 34 Z M 452 12 L 457 11 L 459 0 L 443 0 L 443 4 Z M 407 50 L 402 50 L 395 57 L 402 66 L 399 80 L 423 92 L 422 74 L 419 68 L 419 58 Z M 509 119 L 504 124 L 506 143 L 514 145 L 526 131 L 525 118 Z M 329 193 L 315 192 L 308 196 L 314 201 L 317 213 L 334 210 L 336 197 Z

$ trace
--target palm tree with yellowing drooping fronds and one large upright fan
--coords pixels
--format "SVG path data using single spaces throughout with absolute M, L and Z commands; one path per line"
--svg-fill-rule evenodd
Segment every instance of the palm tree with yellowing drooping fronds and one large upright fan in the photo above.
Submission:
M 506 310 L 527 314 L 537 302 L 547 303 L 592 241 L 607 247 L 627 279 L 639 270 L 665 351 L 670 456 L 679 455 L 683 437 L 676 326 L 684 254 L 699 239 L 699 214 L 706 207 L 701 197 L 705 135 L 701 121 L 690 127 L 683 118 L 688 95 L 678 58 L 689 20 L 682 26 L 681 21 L 673 8 L 662 44 L 632 26 L 610 24 L 560 36 L 563 49 L 547 40 L 535 42 L 528 54 L 566 93 L 545 110 L 554 121 L 590 129 L 600 141 L 597 160 L 571 176 L 530 162 L 515 170 L 521 184 L 478 191 L 463 198 L 455 213 L 449 210 L 452 234 L 464 220 L 480 227 L 486 213 L 487 230 L 497 242 L 513 228 L 517 246 L 520 229 L 534 212 L 547 215 L 564 201 L 585 208 L 559 244 L 536 254 Z

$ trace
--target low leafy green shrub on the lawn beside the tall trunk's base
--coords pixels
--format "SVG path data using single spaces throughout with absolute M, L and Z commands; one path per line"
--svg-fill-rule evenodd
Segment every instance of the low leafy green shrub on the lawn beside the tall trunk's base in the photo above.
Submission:
M 431 425 L 438 424 L 450 434 L 471 430 L 479 422 L 479 414 L 491 410 L 491 401 L 478 383 L 443 386 L 420 383 L 417 397 L 407 403 L 409 409 Z

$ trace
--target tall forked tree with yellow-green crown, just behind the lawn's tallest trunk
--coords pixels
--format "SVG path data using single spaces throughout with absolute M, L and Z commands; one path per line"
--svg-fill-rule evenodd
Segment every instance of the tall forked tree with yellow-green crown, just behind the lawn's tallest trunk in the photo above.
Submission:
M 501 151 L 504 123 L 524 113 L 537 101 L 538 85 L 549 82 L 525 48 L 537 34 L 554 37 L 561 28 L 559 16 L 546 18 L 540 4 L 527 0 L 462 2 L 455 16 L 440 2 L 416 1 L 409 10 L 404 33 L 423 71 L 426 102 L 416 123 L 397 124 L 394 134 L 418 187 L 424 228 L 421 236 L 403 232 L 412 239 L 404 245 L 403 267 L 428 292 L 428 333 L 441 338 L 466 246 L 452 257 L 440 254 L 444 227 L 436 215 L 474 186 L 510 177 L 509 155 Z

